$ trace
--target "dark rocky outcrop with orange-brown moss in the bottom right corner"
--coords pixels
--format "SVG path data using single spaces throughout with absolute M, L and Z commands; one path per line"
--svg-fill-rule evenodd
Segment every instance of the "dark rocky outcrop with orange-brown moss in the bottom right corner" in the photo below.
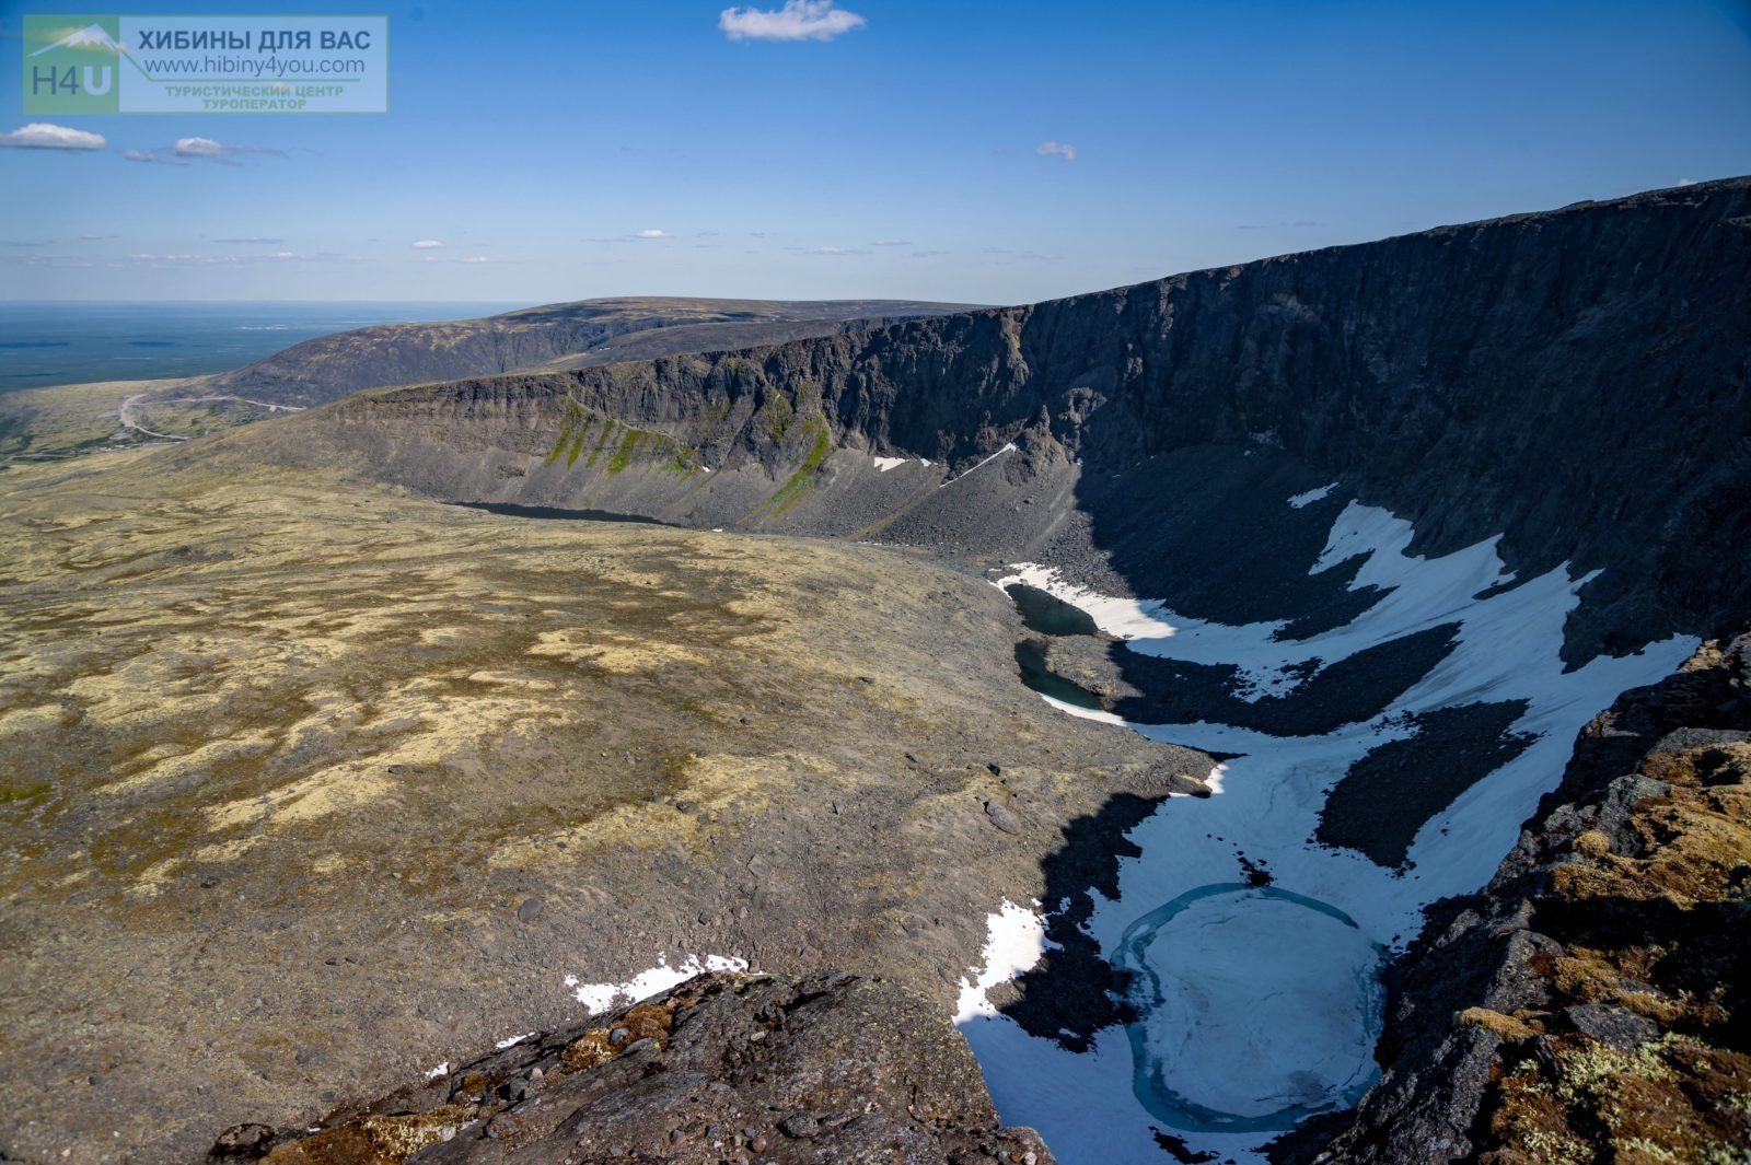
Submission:
M 1401 962 L 1380 1085 L 1275 1160 L 1751 1160 L 1751 635 L 1625 693 Z

